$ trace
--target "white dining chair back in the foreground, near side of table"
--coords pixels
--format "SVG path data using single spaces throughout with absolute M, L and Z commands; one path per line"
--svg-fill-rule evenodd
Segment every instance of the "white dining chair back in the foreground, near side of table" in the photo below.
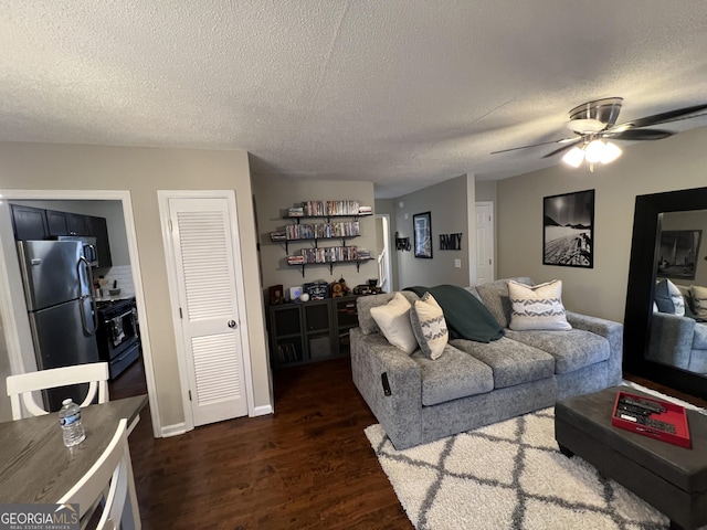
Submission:
M 59 500 L 60 505 L 77 504 L 81 527 L 94 520 L 95 510 L 102 510 L 96 528 L 98 530 L 118 529 L 128 499 L 130 453 L 127 444 L 127 420 L 120 420 L 113 439 L 91 469 Z M 98 505 L 104 491 L 105 502 Z M 138 519 L 139 521 L 139 519 Z M 126 521 L 131 526 L 133 521 Z M 139 526 L 139 523 L 138 523 Z

